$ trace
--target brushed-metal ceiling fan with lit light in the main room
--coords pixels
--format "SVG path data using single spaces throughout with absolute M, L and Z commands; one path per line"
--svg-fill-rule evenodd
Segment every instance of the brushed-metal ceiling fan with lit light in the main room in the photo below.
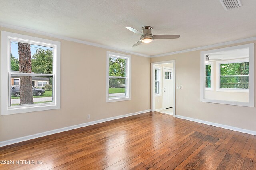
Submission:
M 152 33 L 151 33 L 152 27 L 150 27 L 150 26 L 142 27 L 142 32 L 140 32 L 137 29 L 134 29 L 132 27 L 126 27 L 126 28 L 141 36 L 140 41 L 138 41 L 136 44 L 134 44 L 133 47 L 140 45 L 141 43 L 150 43 L 150 42 L 154 41 L 154 39 L 180 38 L 180 35 L 152 35 Z

